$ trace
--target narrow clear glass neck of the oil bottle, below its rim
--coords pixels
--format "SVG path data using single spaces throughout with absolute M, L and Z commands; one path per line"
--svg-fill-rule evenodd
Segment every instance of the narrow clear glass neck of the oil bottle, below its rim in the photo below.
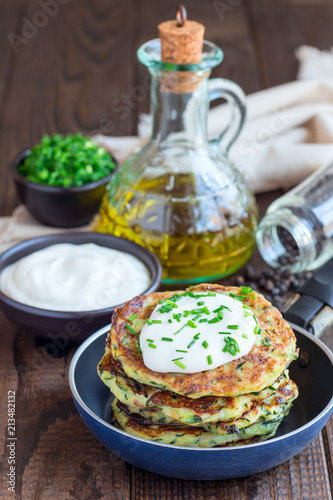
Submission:
M 198 148 L 207 140 L 209 72 L 151 71 L 152 138 Z

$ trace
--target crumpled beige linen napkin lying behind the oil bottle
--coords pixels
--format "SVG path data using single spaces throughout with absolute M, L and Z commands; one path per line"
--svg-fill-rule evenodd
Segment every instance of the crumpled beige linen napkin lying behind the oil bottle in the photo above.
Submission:
M 247 123 L 230 151 L 230 159 L 257 193 L 289 189 L 333 161 L 333 50 L 303 46 L 296 57 L 299 80 L 247 97 Z M 224 130 L 229 112 L 227 105 L 210 110 L 210 138 Z M 138 137 L 97 135 L 94 140 L 122 163 L 147 142 L 150 125 L 150 117 L 142 115 Z M 0 252 L 23 239 L 57 231 L 63 230 L 42 226 L 19 207 L 12 217 L 0 218 Z

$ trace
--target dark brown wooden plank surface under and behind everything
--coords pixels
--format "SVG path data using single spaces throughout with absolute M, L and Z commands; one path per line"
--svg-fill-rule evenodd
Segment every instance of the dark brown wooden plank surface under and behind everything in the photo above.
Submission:
M 294 50 L 332 45 L 332 0 L 188 0 L 189 17 L 225 60 L 213 76 L 246 93 L 295 79 Z M 9 164 L 52 132 L 136 133 L 149 109 L 136 49 L 157 36 L 175 3 L 153 0 L 2 0 L 0 3 L 0 215 L 17 205 Z M 140 89 L 140 90 L 138 90 Z M 121 111 L 120 111 L 121 109 Z M 261 212 L 277 195 L 258 196 Z M 255 253 L 257 269 L 263 262 Z M 333 338 L 323 340 L 333 348 Z M 76 346 L 52 357 L 45 341 L 0 313 L 0 497 L 30 499 L 330 499 L 332 419 L 299 455 L 228 481 L 170 479 L 108 452 L 80 419 L 68 387 Z M 16 393 L 16 493 L 6 484 L 8 393 Z

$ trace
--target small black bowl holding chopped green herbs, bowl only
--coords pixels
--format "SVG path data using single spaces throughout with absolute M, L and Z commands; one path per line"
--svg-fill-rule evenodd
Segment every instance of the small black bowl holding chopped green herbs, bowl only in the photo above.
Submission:
M 106 177 L 83 186 L 57 187 L 26 180 L 18 166 L 29 155 L 27 149 L 12 163 L 12 175 L 20 201 L 42 224 L 56 227 L 78 227 L 87 224 L 98 212 L 105 188 L 115 170 Z M 112 160 L 116 160 L 112 157 Z

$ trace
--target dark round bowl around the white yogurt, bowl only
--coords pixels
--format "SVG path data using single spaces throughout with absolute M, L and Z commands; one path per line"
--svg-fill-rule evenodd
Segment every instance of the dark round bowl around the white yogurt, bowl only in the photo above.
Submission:
M 153 253 L 131 241 L 101 233 L 63 233 L 23 241 L 0 256 L 0 272 L 26 255 L 58 243 L 75 245 L 95 243 L 134 255 L 145 264 L 151 277 L 150 286 L 143 293 L 148 294 L 159 288 L 162 267 Z M 13 323 L 23 327 L 29 333 L 48 338 L 50 334 L 57 334 L 73 342 L 86 339 L 96 329 L 110 323 L 115 307 L 82 312 L 49 311 L 21 304 L 0 291 L 0 308 Z

